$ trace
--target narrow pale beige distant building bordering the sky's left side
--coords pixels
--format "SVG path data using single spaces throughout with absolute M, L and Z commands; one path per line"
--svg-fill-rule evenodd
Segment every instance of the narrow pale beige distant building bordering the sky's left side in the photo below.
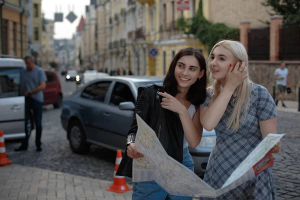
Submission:
M 49 62 L 54 61 L 54 21 L 42 19 L 42 34 L 41 34 L 41 66 L 47 68 Z

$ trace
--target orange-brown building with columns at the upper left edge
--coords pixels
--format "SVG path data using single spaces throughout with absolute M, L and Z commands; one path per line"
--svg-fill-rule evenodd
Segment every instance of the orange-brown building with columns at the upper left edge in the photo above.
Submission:
M 25 9 L 28 1 L 0 0 L 0 54 L 23 57 L 27 51 L 27 16 Z

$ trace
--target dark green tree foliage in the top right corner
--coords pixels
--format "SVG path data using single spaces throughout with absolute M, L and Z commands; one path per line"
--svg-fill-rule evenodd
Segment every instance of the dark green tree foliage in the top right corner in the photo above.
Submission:
M 263 6 L 270 6 L 270 15 L 283 17 L 283 24 L 300 24 L 300 0 L 263 0 Z

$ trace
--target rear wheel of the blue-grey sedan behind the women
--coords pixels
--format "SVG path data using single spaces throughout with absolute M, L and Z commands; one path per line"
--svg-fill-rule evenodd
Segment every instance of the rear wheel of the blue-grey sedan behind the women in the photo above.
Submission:
M 86 136 L 78 121 L 70 122 L 68 126 L 69 143 L 73 152 L 83 154 L 88 152 L 90 144 L 86 142 Z

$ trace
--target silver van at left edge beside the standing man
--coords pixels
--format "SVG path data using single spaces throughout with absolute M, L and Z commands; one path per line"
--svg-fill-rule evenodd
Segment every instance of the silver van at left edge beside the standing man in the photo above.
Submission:
M 25 137 L 25 97 L 20 85 L 22 59 L 0 55 L 0 130 L 5 139 Z

